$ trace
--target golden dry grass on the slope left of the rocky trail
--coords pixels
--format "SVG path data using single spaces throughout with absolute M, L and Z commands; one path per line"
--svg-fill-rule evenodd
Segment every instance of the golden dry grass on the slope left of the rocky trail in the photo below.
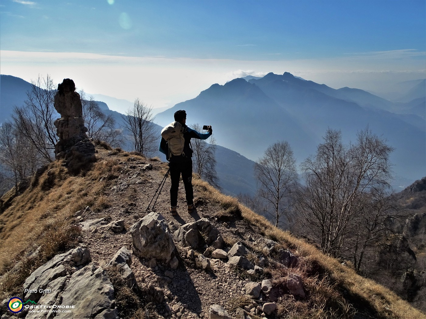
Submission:
M 77 232 L 72 225 L 74 213 L 86 206 L 102 209 L 109 205 L 103 193 L 107 181 L 98 180 L 111 171 L 118 171 L 117 164 L 115 160 L 96 162 L 83 177 L 82 174 L 69 174 L 61 161 L 55 161 L 42 174 L 33 177 L 22 194 L 9 198 L 11 205 L 0 214 L 0 224 L 3 225 L 0 273 L 10 268 L 5 266 L 20 260 L 30 243 L 43 247 L 40 260 L 49 259 L 52 254 L 68 247 L 69 243 L 62 237 Z M 31 260 L 23 262 L 35 265 Z

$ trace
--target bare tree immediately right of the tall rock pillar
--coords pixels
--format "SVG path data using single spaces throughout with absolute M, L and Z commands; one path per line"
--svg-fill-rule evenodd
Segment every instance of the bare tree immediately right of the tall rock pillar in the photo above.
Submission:
M 84 126 L 87 136 L 93 140 L 107 142 L 112 147 L 119 147 L 123 143 L 121 130 L 115 128 L 115 119 L 111 113 L 105 114 L 92 96 L 86 97 L 83 90 L 80 94 L 83 107 Z

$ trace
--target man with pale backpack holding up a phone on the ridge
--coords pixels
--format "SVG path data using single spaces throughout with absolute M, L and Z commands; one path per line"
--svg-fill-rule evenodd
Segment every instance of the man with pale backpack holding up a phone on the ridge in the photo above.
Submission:
M 161 153 L 166 154 L 166 158 L 169 161 L 172 182 L 170 187 L 170 212 L 173 216 L 177 214 L 176 207 L 178 205 L 178 187 L 181 174 L 185 186 L 188 213 L 192 213 L 194 209 L 191 138 L 206 140 L 213 133 L 211 126 L 207 127 L 207 133 L 200 133 L 188 127 L 186 125 L 187 114 L 184 110 L 176 111 L 174 117 L 176 122 L 170 123 L 161 131 L 161 142 L 158 148 Z

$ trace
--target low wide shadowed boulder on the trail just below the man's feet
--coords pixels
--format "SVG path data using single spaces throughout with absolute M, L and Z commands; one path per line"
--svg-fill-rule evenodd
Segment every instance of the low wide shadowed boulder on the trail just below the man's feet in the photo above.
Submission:
M 223 246 L 223 238 L 219 230 L 206 218 L 182 225 L 173 233 L 173 238 L 183 247 L 192 249 L 198 249 L 203 240 L 207 245 L 213 245 L 215 248 L 220 249 Z

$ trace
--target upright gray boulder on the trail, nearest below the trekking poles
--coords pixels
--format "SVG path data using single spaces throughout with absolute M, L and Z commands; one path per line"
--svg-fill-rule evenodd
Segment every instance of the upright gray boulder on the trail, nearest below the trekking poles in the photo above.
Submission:
M 133 240 L 133 253 L 141 258 L 155 258 L 162 262 L 170 262 L 176 249 L 170 228 L 164 217 L 151 212 L 130 228 Z

